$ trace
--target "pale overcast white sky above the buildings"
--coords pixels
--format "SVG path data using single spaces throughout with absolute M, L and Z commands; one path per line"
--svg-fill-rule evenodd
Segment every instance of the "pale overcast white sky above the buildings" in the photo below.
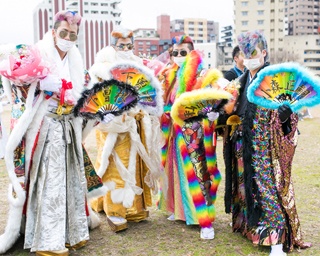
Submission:
M 0 0 L 0 44 L 33 43 L 35 6 L 42 0 Z M 204 18 L 232 25 L 233 0 L 122 0 L 122 25 L 130 29 L 156 28 L 156 17 L 170 15 L 171 20 Z

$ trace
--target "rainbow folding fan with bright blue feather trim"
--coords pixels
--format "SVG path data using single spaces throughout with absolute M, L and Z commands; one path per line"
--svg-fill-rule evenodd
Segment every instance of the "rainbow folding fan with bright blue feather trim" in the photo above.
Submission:
M 288 104 L 292 111 L 320 103 L 320 79 L 297 63 L 262 69 L 247 92 L 248 100 L 265 108 Z

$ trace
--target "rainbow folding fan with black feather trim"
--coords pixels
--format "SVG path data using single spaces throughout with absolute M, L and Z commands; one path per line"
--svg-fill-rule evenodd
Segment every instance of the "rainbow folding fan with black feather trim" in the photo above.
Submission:
M 117 116 L 134 107 L 138 98 L 137 91 L 131 85 L 111 79 L 84 91 L 74 108 L 74 114 L 102 120 L 106 114 Z

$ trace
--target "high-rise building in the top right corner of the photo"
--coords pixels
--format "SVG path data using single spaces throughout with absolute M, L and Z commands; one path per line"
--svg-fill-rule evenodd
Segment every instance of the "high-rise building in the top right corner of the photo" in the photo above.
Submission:
M 318 35 L 320 25 L 319 0 L 285 0 L 286 34 Z

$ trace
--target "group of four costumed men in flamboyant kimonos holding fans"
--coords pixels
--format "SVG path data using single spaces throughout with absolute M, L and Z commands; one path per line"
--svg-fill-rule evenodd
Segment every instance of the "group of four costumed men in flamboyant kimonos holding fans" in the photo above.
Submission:
M 35 46 L 1 48 L 12 116 L 5 152 L 10 209 L 0 253 L 22 233 L 24 248 L 36 255 L 68 255 L 99 225 L 95 212 L 104 212 L 118 232 L 148 218 L 152 193 L 169 221 L 199 225 L 200 238 L 213 239 L 221 180 L 217 125 L 232 230 L 271 246 L 270 255 L 311 246 L 302 239 L 291 165 L 295 113 L 319 101 L 318 79 L 297 65 L 270 69 L 258 31 L 239 35 L 246 71 L 228 82 L 219 70 L 204 68 L 189 36 L 172 39 L 167 63 L 143 62 L 133 54 L 133 32 L 120 26 L 87 72 L 75 45 L 80 23 L 79 14 L 61 11 Z M 308 90 L 287 87 L 279 100 L 270 79 L 283 70 L 300 75 Z M 260 88 L 264 79 L 270 83 Z M 290 75 L 286 82 L 295 80 Z M 305 101 L 292 107 L 287 99 L 294 90 Z M 93 130 L 95 163 L 85 149 Z

